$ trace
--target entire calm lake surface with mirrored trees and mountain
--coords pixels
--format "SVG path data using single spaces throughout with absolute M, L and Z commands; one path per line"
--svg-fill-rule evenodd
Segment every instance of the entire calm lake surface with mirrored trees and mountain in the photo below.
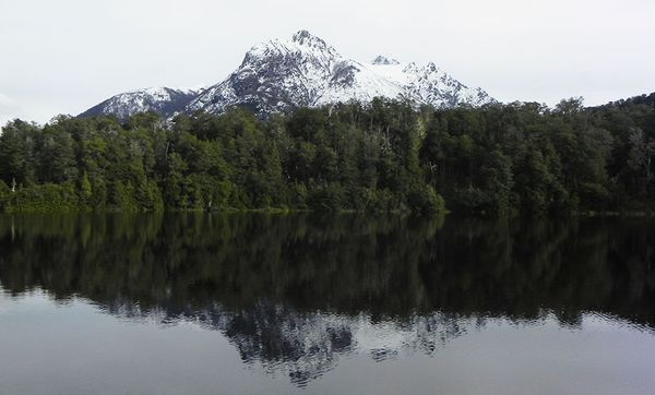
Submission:
M 0 393 L 655 392 L 655 223 L 0 217 Z

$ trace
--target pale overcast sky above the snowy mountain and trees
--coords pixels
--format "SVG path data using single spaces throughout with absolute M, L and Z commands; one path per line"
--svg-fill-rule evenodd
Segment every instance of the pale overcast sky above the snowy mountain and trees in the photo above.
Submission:
M 433 61 L 501 101 L 655 91 L 652 0 L 0 0 L 0 124 L 121 92 L 221 82 L 308 29 L 345 57 Z

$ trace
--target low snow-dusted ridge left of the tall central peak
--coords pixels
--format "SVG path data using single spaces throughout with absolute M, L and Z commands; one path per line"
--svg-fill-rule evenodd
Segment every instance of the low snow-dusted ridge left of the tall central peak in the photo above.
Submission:
M 183 109 L 198 92 L 181 91 L 169 87 L 150 87 L 145 89 L 121 93 L 82 112 L 80 117 L 112 115 L 127 119 L 131 115 L 154 111 L 163 117 L 170 117 Z

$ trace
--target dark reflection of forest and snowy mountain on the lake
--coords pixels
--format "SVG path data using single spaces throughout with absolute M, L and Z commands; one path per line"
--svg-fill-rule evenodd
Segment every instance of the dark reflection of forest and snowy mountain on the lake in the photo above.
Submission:
M 434 355 L 491 320 L 652 331 L 655 224 L 358 215 L 3 216 L 0 284 L 219 331 L 308 382 L 352 354 Z M 259 369 L 259 368 L 258 368 Z

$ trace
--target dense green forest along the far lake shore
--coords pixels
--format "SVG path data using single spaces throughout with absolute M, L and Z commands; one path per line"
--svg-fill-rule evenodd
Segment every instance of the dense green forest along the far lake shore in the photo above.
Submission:
M 0 136 L 5 211 L 651 211 L 655 94 L 584 108 L 235 108 L 15 120 Z M 442 198 L 443 196 L 443 198 Z

